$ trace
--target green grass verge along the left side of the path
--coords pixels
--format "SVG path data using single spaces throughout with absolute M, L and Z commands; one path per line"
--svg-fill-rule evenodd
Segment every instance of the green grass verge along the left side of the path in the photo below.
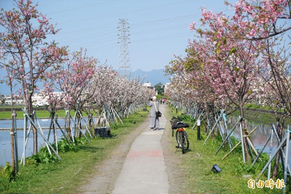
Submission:
M 143 114 L 145 116 L 141 117 Z M 1 194 L 75 194 L 94 173 L 95 166 L 105 160 L 127 135 L 141 124 L 148 112 L 137 113 L 124 119 L 124 125 L 112 129 L 113 138 L 90 139 L 91 143 L 79 146 L 78 152 L 60 153 L 62 162 L 38 166 L 20 166 L 20 176 L 8 182 L 0 175 Z M 136 121 L 136 124 L 133 124 Z M 0 170 L 1 172 L 1 170 Z

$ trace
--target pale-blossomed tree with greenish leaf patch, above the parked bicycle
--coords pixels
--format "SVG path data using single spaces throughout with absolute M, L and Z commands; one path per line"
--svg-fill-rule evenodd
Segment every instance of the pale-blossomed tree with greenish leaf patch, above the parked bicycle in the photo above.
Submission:
M 193 105 L 202 108 L 208 115 L 210 120 L 214 120 L 215 111 L 220 110 L 214 103 L 217 104 L 220 99 L 214 93 L 210 83 L 211 78 L 207 75 L 204 62 L 209 60 L 210 50 L 208 47 L 213 47 L 212 44 L 207 42 L 194 40 L 193 43 L 189 42 L 186 49 L 187 56 L 182 59 L 176 57 L 169 66 L 166 66 L 166 72 L 173 74 L 171 85 L 166 91 L 166 94 L 176 104 L 182 105 L 182 109 L 192 107 Z M 206 115 L 206 114 L 205 114 Z M 206 117 L 204 119 L 207 119 Z M 209 122 L 208 128 L 212 128 L 213 122 Z M 205 131 L 207 128 L 205 126 Z M 217 131 L 214 131 L 216 133 Z M 214 133 L 211 133 L 214 138 Z

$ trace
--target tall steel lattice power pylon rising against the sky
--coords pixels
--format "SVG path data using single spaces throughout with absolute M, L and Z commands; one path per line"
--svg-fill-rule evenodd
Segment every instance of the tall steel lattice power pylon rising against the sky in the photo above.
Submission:
M 118 59 L 118 72 L 125 78 L 131 77 L 131 68 L 130 68 L 130 60 L 129 60 L 129 51 L 128 44 L 129 42 L 129 23 L 127 19 L 119 19 L 118 39 L 120 41 L 120 49 L 119 49 L 119 59 Z

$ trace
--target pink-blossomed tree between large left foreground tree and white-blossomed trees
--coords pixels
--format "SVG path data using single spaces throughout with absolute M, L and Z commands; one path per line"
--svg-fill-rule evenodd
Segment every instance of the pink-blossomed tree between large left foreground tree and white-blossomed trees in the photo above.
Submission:
M 80 51 L 72 52 L 58 68 L 52 68 L 46 73 L 49 82 L 54 83 L 53 85 L 45 84 L 47 95 L 54 96 L 50 102 L 51 105 L 58 106 L 62 103 L 67 111 L 66 131 L 69 139 L 71 138 L 70 111 L 73 108 L 78 113 L 79 105 L 82 106 L 82 101 L 86 100 L 83 98 L 84 89 L 91 83 L 96 63 L 95 58 L 86 55 L 86 50 L 80 49 Z M 54 95 L 54 89 L 62 93 Z

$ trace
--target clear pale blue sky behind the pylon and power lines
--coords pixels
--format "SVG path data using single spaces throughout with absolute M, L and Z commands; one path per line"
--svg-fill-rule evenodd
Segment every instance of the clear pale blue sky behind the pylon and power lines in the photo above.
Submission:
M 201 18 L 200 8 L 231 13 L 224 0 L 32 0 L 38 10 L 57 23 L 55 40 L 70 50 L 87 49 L 100 63 L 118 68 L 119 19 L 129 23 L 128 45 L 132 71 L 162 69 L 176 55 L 184 55 L 194 32 L 189 24 Z M 13 8 L 12 0 L 0 0 L 4 10 Z

